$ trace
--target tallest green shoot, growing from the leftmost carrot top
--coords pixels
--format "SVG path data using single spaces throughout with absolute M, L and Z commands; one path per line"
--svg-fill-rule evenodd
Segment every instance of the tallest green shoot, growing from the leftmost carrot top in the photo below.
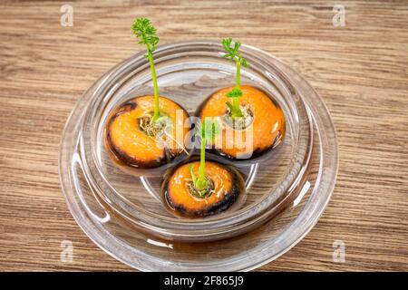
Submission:
M 159 43 L 159 36 L 156 34 L 156 28 L 151 24 L 148 18 L 135 18 L 131 25 L 131 30 L 135 37 L 139 39 L 139 44 L 146 45 L 147 53 L 146 58 L 151 63 L 151 78 L 153 80 L 154 87 L 154 112 L 153 121 L 157 121 L 160 116 L 159 106 L 159 87 L 157 84 L 156 69 L 153 62 L 153 52 L 156 49 L 156 45 Z

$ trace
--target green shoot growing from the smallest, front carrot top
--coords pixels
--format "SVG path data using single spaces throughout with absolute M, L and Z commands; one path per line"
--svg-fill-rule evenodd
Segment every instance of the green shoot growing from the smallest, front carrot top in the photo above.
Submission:
M 214 142 L 215 137 L 219 134 L 219 122 L 214 120 L 205 120 L 202 124 L 197 125 L 196 136 L 201 139 L 200 159 L 199 159 L 199 176 L 193 172 L 190 167 L 191 179 L 193 180 L 194 187 L 200 191 L 209 188 L 209 180 L 206 179 L 206 143 L 207 140 Z

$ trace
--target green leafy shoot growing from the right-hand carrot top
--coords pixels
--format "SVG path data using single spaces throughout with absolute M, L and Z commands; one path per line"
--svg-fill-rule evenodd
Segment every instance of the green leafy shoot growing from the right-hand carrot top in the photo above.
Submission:
M 229 110 L 231 111 L 232 119 L 237 117 L 242 117 L 242 111 L 239 108 L 239 98 L 242 97 L 240 79 L 241 79 L 241 66 L 248 67 L 249 63 L 245 60 L 241 53 L 238 52 L 241 43 L 232 43 L 232 38 L 226 38 L 222 40 L 222 47 L 224 48 L 226 54 L 224 57 L 231 62 L 237 64 L 237 73 L 235 75 L 235 88 L 227 93 L 228 98 L 232 99 L 232 103 L 226 102 Z

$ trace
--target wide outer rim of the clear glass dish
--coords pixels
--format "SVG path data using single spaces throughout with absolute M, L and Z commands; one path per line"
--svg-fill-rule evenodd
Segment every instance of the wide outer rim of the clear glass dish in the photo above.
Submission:
M 202 41 L 200 41 L 202 42 Z M 258 50 L 257 48 L 253 48 Z M 267 53 L 269 54 L 269 53 Z M 121 260 L 121 262 L 136 267 L 141 270 L 154 270 L 155 266 L 157 267 L 158 263 L 164 263 L 164 267 L 160 269 L 168 270 L 250 270 L 257 266 L 261 266 L 273 260 L 277 256 L 284 254 L 288 249 L 295 246 L 296 243 L 310 231 L 310 229 L 316 224 L 318 218 L 324 212 L 325 207 L 332 195 L 333 189 L 335 187 L 335 177 L 338 170 L 338 154 L 337 154 L 337 141 L 335 136 L 335 127 L 333 121 L 330 118 L 330 115 L 327 111 L 325 103 L 322 102 L 320 97 L 317 95 L 315 90 L 305 81 L 305 79 L 298 75 L 295 71 L 290 69 L 286 64 L 281 63 L 277 58 L 269 54 L 269 57 L 273 58 L 278 65 L 288 71 L 293 73 L 296 77 L 296 81 L 301 83 L 306 90 L 312 92 L 313 96 L 307 97 L 307 108 L 311 112 L 313 120 L 316 122 L 317 133 L 319 137 L 319 146 L 321 149 L 320 152 L 320 164 L 319 164 L 319 173 L 318 180 L 319 186 L 313 189 L 312 194 L 309 200 L 306 203 L 305 208 L 302 209 L 300 214 L 290 222 L 287 227 L 284 227 L 281 231 L 281 237 L 285 233 L 290 233 L 288 237 L 283 240 L 283 245 L 277 250 L 274 249 L 270 244 L 264 243 L 263 247 L 255 247 L 246 252 L 244 256 L 238 256 L 234 259 L 228 259 L 228 263 L 216 263 L 219 265 L 214 265 L 214 263 L 203 263 L 199 266 L 192 265 L 174 265 L 169 263 L 166 260 L 160 260 L 157 257 L 150 256 L 138 250 L 134 247 L 129 247 L 125 243 L 121 242 L 116 237 L 113 237 L 105 228 L 102 227 L 102 224 L 98 224 L 98 221 L 89 217 L 89 213 L 86 210 L 81 208 L 80 204 L 75 202 L 74 194 L 75 192 L 72 184 L 72 176 L 70 170 L 66 170 L 66 165 L 71 168 L 70 164 L 67 164 L 67 159 L 72 160 L 72 157 L 66 150 L 69 150 L 64 146 L 64 140 L 69 137 L 72 137 L 77 132 L 75 132 L 75 126 L 72 124 L 72 119 L 74 112 L 84 106 L 84 103 L 78 102 L 63 131 L 63 138 L 60 145 L 60 156 L 59 156 L 59 175 L 62 183 L 63 194 L 70 208 L 73 218 L 76 220 L 78 225 L 83 228 L 83 231 L 92 241 L 97 244 L 99 247 L 102 247 L 108 254 Z M 77 130 L 77 128 L 76 128 Z M 325 165 L 323 164 L 325 162 Z M 328 164 L 327 164 L 328 163 Z M 327 169 L 328 167 L 328 169 Z M 324 170 L 324 168 L 326 168 Z M 325 181 L 322 185 L 322 182 Z M 312 198 L 317 198 L 316 204 L 311 204 Z M 80 198 L 81 199 L 81 198 Z M 83 205 L 82 205 L 83 206 Z M 302 222 L 302 220 L 304 222 Z M 118 250 L 121 250 L 118 253 Z M 132 260 L 129 255 L 137 255 L 138 263 L 132 263 Z M 248 258 L 250 257 L 250 258 Z M 155 261 L 152 261 L 155 260 Z M 224 261 L 224 260 L 222 260 Z M 225 261 L 224 261 L 225 262 Z M 226 267 L 228 266 L 228 268 Z

